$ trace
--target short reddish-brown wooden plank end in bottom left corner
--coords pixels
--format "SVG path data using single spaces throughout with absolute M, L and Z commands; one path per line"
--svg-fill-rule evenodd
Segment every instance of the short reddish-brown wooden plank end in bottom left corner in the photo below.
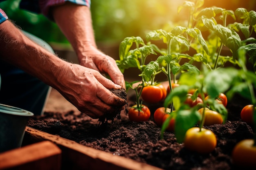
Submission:
M 0 153 L 0 170 L 61 170 L 61 149 L 42 141 Z

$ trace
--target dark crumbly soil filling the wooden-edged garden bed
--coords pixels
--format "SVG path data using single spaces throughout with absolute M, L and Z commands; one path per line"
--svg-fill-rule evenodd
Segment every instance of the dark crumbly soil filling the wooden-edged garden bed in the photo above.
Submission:
M 128 95 L 128 108 L 134 103 Z M 234 97 L 228 102 L 228 120 L 223 125 L 204 126 L 217 137 L 217 147 L 209 154 L 198 154 L 184 148 L 172 132 L 164 132 L 152 116 L 149 121 L 129 121 L 125 110 L 121 119 L 107 121 L 99 126 L 98 119 L 80 113 L 72 104 L 52 90 L 43 116 L 32 117 L 27 126 L 76 141 L 84 146 L 110 152 L 165 170 L 238 170 L 249 169 L 235 166 L 231 159 L 234 146 L 243 139 L 252 139 L 252 127 L 240 120 L 240 110 L 249 104 Z M 150 105 L 151 114 L 159 107 Z

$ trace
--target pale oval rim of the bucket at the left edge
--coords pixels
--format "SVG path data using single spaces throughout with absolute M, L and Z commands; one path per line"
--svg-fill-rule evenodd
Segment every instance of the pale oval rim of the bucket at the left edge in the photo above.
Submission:
M 5 104 L 0 104 L 0 113 L 6 113 L 10 115 L 19 115 L 19 116 L 34 116 L 34 113 L 31 113 L 27 110 L 14 107 L 14 106 L 5 105 Z

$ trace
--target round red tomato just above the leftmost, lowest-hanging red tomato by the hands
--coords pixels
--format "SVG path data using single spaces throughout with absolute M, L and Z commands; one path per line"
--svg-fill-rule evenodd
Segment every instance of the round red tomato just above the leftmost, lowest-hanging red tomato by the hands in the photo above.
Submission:
M 162 100 L 163 91 L 158 86 L 145 86 L 141 92 L 141 98 L 148 103 L 157 103 Z

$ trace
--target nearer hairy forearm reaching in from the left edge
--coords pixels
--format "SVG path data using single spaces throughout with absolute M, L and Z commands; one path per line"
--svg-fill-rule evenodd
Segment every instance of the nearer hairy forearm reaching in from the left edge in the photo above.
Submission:
M 56 86 L 56 77 L 64 61 L 29 40 L 9 20 L 0 24 L 0 59 Z

